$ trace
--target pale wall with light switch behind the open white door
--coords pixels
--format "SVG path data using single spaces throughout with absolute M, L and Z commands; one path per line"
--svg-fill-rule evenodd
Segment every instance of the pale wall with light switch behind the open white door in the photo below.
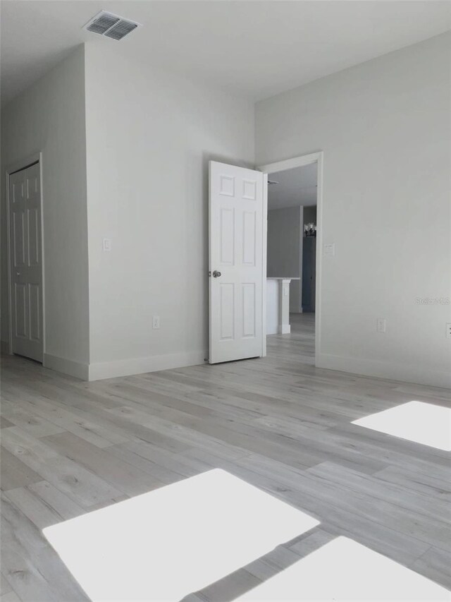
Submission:
M 254 164 L 254 107 L 111 45 L 87 45 L 86 94 L 90 378 L 202 362 L 208 161 Z

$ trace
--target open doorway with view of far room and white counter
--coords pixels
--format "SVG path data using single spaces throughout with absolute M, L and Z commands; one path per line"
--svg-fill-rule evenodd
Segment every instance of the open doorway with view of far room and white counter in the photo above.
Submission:
M 259 169 L 268 174 L 266 333 L 319 353 L 322 152 Z M 268 341 L 269 344 L 269 341 Z

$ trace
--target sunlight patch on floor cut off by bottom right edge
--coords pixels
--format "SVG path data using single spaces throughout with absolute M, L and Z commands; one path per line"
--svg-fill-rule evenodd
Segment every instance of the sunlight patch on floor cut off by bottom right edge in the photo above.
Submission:
M 394 560 L 338 537 L 235 602 L 450 601 L 450 592 Z

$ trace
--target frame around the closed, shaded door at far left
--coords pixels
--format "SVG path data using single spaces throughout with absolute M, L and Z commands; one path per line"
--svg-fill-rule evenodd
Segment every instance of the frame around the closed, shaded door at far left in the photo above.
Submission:
M 42 267 L 42 366 L 45 358 L 45 258 L 44 258 L 44 191 L 42 186 L 42 151 L 37 151 L 28 155 L 24 159 L 16 161 L 6 167 L 6 256 L 8 258 L 8 327 L 9 354 L 13 355 L 13 290 L 11 279 L 11 207 L 9 198 L 9 176 L 16 171 L 22 171 L 34 163 L 39 163 L 39 193 L 41 195 L 41 267 Z

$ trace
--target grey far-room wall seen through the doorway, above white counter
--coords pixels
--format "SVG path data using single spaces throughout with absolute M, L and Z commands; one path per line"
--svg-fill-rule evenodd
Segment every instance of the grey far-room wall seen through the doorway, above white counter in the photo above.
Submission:
M 302 207 L 268 211 L 266 272 L 273 277 L 298 277 L 290 283 L 290 311 L 302 311 Z

